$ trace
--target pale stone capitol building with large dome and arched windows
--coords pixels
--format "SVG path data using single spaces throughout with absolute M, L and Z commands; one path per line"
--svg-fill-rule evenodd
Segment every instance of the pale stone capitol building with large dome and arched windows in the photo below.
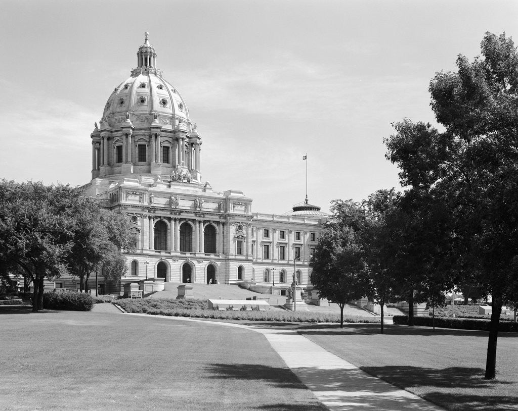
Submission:
M 156 67 L 148 33 L 137 67 L 114 88 L 91 140 L 92 180 L 84 194 L 127 215 L 138 238 L 136 250 L 125 253 L 119 282 L 99 273 L 102 293 L 242 283 L 285 295 L 294 260 L 298 283 L 311 290 L 309 256 L 328 215 L 307 199 L 286 214 L 253 212 L 242 191 L 218 191 L 204 180 L 202 135 L 178 89 Z M 56 281 L 67 287 L 73 280 Z

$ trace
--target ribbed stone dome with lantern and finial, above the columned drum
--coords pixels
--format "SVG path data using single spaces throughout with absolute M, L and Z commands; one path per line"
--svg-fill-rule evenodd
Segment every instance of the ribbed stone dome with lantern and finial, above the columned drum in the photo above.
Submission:
M 170 124 L 173 128 L 179 122 L 190 124 L 189 111 L 178 90 L 165 81 L 162 71 L 156 68 L 156 53 L 149 44 L 148 35 L 146 33 L 144 44 L 138 49 L 137 68 L 132 70 L 131 77 L 119 84 L 108 98 L 103 120 L 115 126 L 117 119 L 126 113 L 156 113 L 163 124 Z

